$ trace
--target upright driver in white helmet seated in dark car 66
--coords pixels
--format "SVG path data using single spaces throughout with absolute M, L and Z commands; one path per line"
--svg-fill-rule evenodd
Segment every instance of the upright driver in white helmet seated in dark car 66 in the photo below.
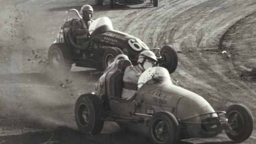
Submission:
M 84 42 L 88 41 L 89 26 L 92 22 L 93 7 L 84 5 L 80 11 L 82 19 L 74 20 L 72 24 L 72 33 L 76 37 L 76 44 L 83 46 Z

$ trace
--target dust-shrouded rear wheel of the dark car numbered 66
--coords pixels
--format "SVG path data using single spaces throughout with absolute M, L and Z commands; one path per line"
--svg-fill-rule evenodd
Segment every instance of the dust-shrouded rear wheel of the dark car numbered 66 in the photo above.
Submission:
M 69 72 L 72 67 L 70 61 L 69 47 L 64 43 L 52 44 L 48 50 L 48 61 L 50 66 L 56 70 Z

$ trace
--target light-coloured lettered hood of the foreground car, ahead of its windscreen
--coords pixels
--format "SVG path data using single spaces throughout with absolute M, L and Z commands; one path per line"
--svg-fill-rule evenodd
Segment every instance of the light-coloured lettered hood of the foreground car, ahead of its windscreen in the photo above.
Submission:
M 143 85 L 138 94 L 146 104 L 167 108 L 179 120 L 215 112 L 202 96 L 168 82 Z

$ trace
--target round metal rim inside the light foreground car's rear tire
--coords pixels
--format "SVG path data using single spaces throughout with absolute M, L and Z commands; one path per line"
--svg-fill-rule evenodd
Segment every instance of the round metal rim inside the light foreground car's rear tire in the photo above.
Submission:
M 87 105 L 85 104 L 80 105 L 78 109 L 78 118 L 79 118 L 80 124 L 82 124 L 83 126 L 87 126 L 90 118 L 90 112 L 88 110 Z

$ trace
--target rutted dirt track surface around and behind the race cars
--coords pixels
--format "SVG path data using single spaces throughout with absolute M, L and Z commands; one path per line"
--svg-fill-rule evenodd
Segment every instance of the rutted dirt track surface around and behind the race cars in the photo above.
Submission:
M 93 1 L 0 1 L 1 144 L 151 143 L 147 136 L 115 123 L 105 123 L 97 136 L 77 131 L 76 99 L 93 92 L 102 73 L 73 66 L 69 75 L 54 74 L 48 70 L 46 54 L 65 11 L 83 4 Z M 256 116 L 255 0 L 161 0 L 158 7 L 93 7 L 94 18 L 109 17 L 114 29 L 142 39 L 150 48 L 171 44 L 179 59 L 171 77 L 179 86 L 203 96 L 215 110 L 243 103 Z M 254 126 L 243 143 L 255 141 Z M 180 143 L 231 142 L 222 133 Z

